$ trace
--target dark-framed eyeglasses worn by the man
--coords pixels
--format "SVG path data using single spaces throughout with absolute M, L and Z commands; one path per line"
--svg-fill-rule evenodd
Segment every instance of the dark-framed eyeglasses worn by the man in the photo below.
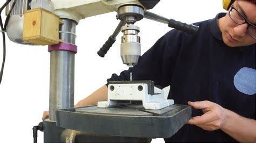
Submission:
M 256 27 L 255 25 L 248 22 L 248 20 L 245 18 L 244 15 L 240 11 L 238 11 L 232 4 L 231 10 L 228 13 L 230 18 L 233 20 L 234 23 L 241 25 L 241 24 L 248 24 L 248 27 L 246 29 L 247 34 L 249 34 L 253 39 L 256 39 Z

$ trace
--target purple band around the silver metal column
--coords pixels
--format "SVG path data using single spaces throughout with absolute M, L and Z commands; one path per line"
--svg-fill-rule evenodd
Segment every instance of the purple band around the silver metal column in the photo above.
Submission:
M 77 53 L 77 46 L 68 43 L 59 43 L 56 45 L 49 45 L 48 52 L 56 51 L 56 50 L 64 50 L 64 51 L 71 51 Z

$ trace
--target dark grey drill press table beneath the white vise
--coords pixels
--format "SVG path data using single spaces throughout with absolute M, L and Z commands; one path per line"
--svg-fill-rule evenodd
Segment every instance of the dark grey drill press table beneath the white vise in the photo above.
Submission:
M 170 138 L 191 118 L 188 105 L 145 110 L 129 104 L 115 108 L 85 106 L 56 111 L 57 126 L 91 134 L 135 138 Z

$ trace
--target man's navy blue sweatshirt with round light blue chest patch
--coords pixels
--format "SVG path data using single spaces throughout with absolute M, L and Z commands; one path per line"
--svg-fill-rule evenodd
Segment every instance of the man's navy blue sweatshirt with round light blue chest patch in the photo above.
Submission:
M 161 37 L 139 60 L 139 64 L 113 74 L 109 81 L 152 80 L 164 88 L 171 85 L 169 99 L 175 104 L 188 101 L 211 101 L 239 115 L 255 119 L 255 94 L 246 95 L 234 86 L 234 75 L 243 67 L 255 69 L 255 44 L 228 47 L 222 40 L 217 19 L 196 23 L 196 36 L 171 30 Z M 192 117 L 203 115 L 193 110 Z M 206 131 L 184 125 L 165 141 L 235 141 L 221 130 Z

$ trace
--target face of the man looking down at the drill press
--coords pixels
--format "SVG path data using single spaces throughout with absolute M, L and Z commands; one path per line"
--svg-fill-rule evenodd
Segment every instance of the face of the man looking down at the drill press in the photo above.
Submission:
M 233 6 L 245 16 L 251 24 L 256 23 L 256 5 L 247 1 L 235 1 Z M 231 10 L 231 9 L 230 9 Z M 229 11 L 228 11 L 229 12 Z M 238 47 L 255 44 L 253 39 L 247 32 L 248 24 L 238 25 L 233 22 L 227 15 L 219 20 L 220 31 L 222 32 L 223 41 L 227 46 Z M 233 10 L 232 10 L 233 15 Z M 255 32 L 255 31 L 254 31 Z

